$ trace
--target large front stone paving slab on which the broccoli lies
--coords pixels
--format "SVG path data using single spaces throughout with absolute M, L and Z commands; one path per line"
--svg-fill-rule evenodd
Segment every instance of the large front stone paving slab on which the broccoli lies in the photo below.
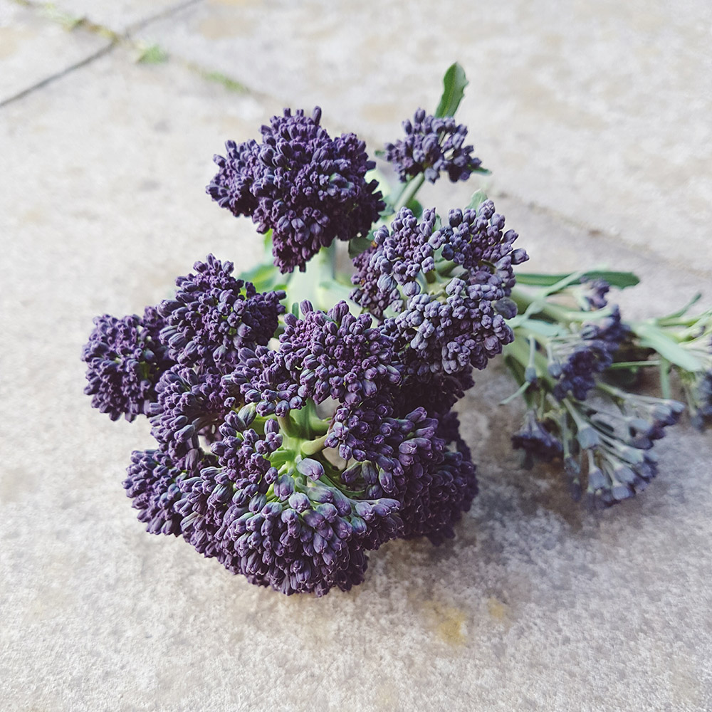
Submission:
M 80 348 L 93 315 L 156 303 L 209 251 L 256 261 L 251 224 L 203 186 L 226 138 L 292 100 L 275 96 L 117 49 L 0 110 L 3 710 L 708 711 L 712 441 L 686 426 L 643 496 L 589 515 L 554 473 L 518 468 L 493 366 L 461 404 L 481 495 L 456 540 L 390 543 L 364 585 L 320 600 L 248 585 L 135 520 L 120 482 L 149 428 L 90 409 Z M 703 276 L 512 197 L 507 161 L 490 163 L 533 269 L 633 268 L 637 316 L 712 300 Z

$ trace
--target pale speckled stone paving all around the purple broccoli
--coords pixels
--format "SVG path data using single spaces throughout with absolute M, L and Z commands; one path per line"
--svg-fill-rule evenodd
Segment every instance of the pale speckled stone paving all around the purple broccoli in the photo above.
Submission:
M 121 481 L 132 449 L 150 446 L 149 428 L 90 409 L 81 345 L 94 315 L 157 302 L 209 251 L 256 263 L 261 238 L 211 204 L 204 184 L 224 140 L 252 137 L 289 103 L 320 103 L 330 130 L 353 122 L 372 148 L 415 105 L 436 101 L 444 64 L 471 56 L 463 120 L 531 268 L 631 268 L 644 282 L 621 302 L 636 317 L 696 290 L 712 301 L 711 75 L 696 43 L 706 4 L 654 4 L 628 33 L 617 23 L 642 5 L 578 2 L 577 14 L 557 17 L 553 3 L 508 1 L 482 10 L 479 28 L 448 2 L 436 13 L 385 2 L 375 19 L 389 28 L 368 26 L 366 6 L 363 17 L 320 2 L 260 7 L 198 3 L 146 26 L 184 37 L 168 63 L 137 65 L 119 45 L 0 108 L 0 708 L 708 712 L 712 438 L 685 424 L 661 442 L 661 474 L 643 496 L 587 514 L 553 471 L 519 468 L 507 434 L 520 413 L 496 405 L 511 384 L 493 365 L 461 403 L 481 494 L 456 540 L 390 543 L 371 556 L 364 585 L 320 600 L 248 585 L 135 519 Z M 191 61 L 226 71 L 231 42 L 251 53 L 231 75 L 258 93 L 226 90 L 181 61 L 178 48 L 190 59 L 198 46 L 188 39 L 200 17 L 214 34 L 229 18 L 245 27 L 232 39 L 201 34 L 214 53 Z M 311 54 L 283 52 L 282 65 L 254 54 L 286 43 L 278 33 L 289 18 Z M 345 44 L 349 23 L 364 51 Z M 73 43 L 77 32 L 59 36 Z M 651 32 L 665 41 L 649 46 Z M 587 34 L 604 37 L 611 56 L 587 54 Z M 582 57 L 570 61 L 577 38 Z M 539 64 L 527 60 L 536 46 L 550 47 Z M 626 73 L 624 46 L 662 59 Z M 665 61 L 678 50 L 680 64 Z M 33 53 L 44 57 L 41 45 Z M 532 75 L 558 103 L 530 95 Z M 16 80 L 36 82 L 31 62 Z M 367 95 L 380 108 L 364 108 Z M 598 118 L 579 120 L 587 114 Z M 604 140 L 610 150 L 597 148 Z M 424 196 L 446 209 L 469 190 L 441 182 Z M 670 204 L 679 214 L 665 214 L 664 229 L 660 206 Z M 672 264 L 690 256 L 689 269 Z

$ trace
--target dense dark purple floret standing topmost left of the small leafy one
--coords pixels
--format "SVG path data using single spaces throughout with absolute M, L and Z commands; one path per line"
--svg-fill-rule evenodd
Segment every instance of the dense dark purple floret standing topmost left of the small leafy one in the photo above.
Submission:
M 385 204 L 365 144 L 354 134 L 335 139 L 311 117 L 289 109 L 262 127 L 262 142 L 226 143 L 219 172 L 207 187 L 234 215 L 250 216 L 258 231 L 272 231 L 274 263 L 282 272 L 304 270 L 335 239 L 366 236 Z

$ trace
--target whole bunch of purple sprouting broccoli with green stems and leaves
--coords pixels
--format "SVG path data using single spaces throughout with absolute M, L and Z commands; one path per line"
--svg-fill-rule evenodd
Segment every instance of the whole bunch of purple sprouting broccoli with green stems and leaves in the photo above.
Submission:
M 251 217 L 271 260 L 236 276 L 209 255 L 142 316 L 95 319 L 85 392 L 152 424 L 124 482 L 150 533 L 286 594 L 349 590 L 388 540 L 454 536 L 477 492 L 454 406 L 500 355 L 528 408 L 513 446 L 596 505 L 655 475 L 684 409 L 671 374 L 693 421 L 712 417 L 712 311 L 625 323 L 607 292 L 634 277 L 515 272 L 527 253 L 481 191 L 446 216 L 419 204 L 426 181 L 486 172 L 453 118 L 465 85 L 453 65 L 434 114 L 385 145 L 397 194 L 318 108 L 228 142 L 207 192 Z M 649 367 L 662 398 L 626 389 Z

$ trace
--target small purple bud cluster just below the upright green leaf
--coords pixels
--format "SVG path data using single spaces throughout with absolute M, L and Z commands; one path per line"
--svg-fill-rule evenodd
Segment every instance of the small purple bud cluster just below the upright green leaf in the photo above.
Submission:
M 473 147 L 464 145 L 467 128 L 453 117 L 434 117 L 418 109 L 412 121 L 403 122 L 403 128 L 404 139 L 385 145 L 385 158 L 402 182 L 423 174 L 434 183 L 441 173 L 447 173 L 455 183 L 467 180 L 473 172 L 484 172 Z

